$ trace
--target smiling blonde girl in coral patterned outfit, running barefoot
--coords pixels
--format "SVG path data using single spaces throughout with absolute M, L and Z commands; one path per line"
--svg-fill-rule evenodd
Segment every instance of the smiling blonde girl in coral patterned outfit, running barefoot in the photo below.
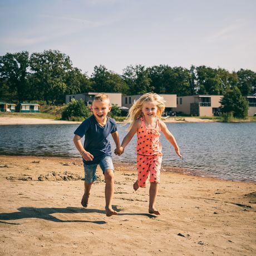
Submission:
M 160 182 L 160 168 L 162 152 L 160 144 L 160 131 L 163 131 L 166 139 L 174 146 L 176 154 L 181 157 L 179 147 L 174 136 L 170 133 L 163 121 L 160 120 L 164 112 L 163 97 L 156 93 L 145 93 L 139 100 L 135 101 L 129 110 L 126 122 L 130 122 L 129 132 L 122 141 L 120 151 L 131 141 L 135 132 L 137 133 L 137 173 L 138 177 L 134 183 L 134 190 L 145 188 L 146 180 L 150 175 L 149 189 L 149 213 L 159 215 L 155 208 L 155 201 Z

